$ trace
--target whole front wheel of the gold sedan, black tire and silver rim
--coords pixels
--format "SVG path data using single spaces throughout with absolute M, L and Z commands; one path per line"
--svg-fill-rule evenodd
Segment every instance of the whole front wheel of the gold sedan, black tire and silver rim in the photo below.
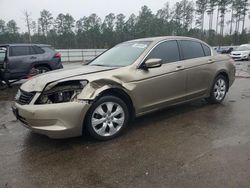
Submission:
M 110 140 L 119 136 L 127 127 L 129 111 L 118 97 L 103 96 L 90 108 L 86 116 L 86 128 L 97 140 Z

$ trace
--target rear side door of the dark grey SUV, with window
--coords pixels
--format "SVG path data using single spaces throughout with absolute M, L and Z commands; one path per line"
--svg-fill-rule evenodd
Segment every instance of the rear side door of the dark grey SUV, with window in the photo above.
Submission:
M 36 56 L 32 53 L 31 46 L 10 46 L 8 70 L 11 79 L 26 77 L 34 61 L 36 61 Z

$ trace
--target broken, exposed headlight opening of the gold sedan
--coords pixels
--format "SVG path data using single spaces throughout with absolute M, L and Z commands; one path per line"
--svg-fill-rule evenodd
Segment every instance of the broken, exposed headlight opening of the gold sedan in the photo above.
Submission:
M 87 83 L 87 81 L 73 80 L 58 83 L 48 90 L 45 88 L 36 104 L 71 102 L 81 93 Z

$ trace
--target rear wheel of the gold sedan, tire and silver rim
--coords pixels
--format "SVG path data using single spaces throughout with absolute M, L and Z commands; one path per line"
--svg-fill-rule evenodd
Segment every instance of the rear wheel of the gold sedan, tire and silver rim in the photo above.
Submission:
M 206 100 L 210 104 L 219 104 L 226 97 L 228 90 L 227 79 L 223 75 L 219 75 L 216 77 L 212 89 L 210 91 L 210 97 L 206 98 Z

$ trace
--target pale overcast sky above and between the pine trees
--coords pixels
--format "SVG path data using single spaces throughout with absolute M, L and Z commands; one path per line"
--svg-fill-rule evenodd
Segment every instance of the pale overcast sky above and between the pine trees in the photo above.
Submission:
M 127 17 L 134 13 L 138 15 L 140 8 L 147 5 L 153 13 L 164 7 L 166 2 L 173 4 L 180 0 L 0 0 L 0 19 L 8 22 L 14 19 L 21 32 L 26 31 L 24 11 L 31 13 L 34 21 L 40 16 L 43 9 L 49 10 L 55 18 L 59 13 L 69 13 L 75 20 L 83 16 L 96 13 L 102 19 L 109 13 L 123 13 Z M 216 14 L 214 15 L 215 24 Z M 229 19 L 227 15 L 226 19 Z M 205 17 L 205 29 L 208 27 L 208 16 Z M 250 20 L 246 20 L 246 26 L 250 27 Z M 213 26 L 215 27 L 215 25 Z M 226 32 L 228 27 L 226 27 Z

